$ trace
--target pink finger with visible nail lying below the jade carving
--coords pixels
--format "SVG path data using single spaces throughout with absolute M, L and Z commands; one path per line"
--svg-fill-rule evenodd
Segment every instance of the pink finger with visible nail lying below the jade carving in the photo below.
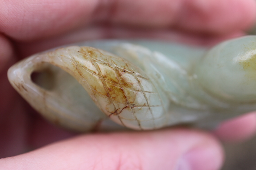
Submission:
M 212 136 L 162 130 L 84 135 L 2 159 L 0 170 L 217 170 L 222 161 L 222 148 Z

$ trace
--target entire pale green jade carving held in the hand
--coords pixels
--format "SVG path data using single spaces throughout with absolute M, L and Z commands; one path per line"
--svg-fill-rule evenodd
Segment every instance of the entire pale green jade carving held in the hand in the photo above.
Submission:
M 256 110 L 256 36 L 212 49 L 87 41 L 25 58 L 8 77 L 33 108 L 71 130 L 213 128 Z

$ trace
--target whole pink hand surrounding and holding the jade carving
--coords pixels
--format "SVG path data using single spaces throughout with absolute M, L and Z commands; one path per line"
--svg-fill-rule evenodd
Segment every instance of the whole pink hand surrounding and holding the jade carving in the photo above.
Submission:
M 0 170 L 217 170 L 224 160 L 219 140 L 242 141 L 255 132 L 255 113 L 250 113 L 213 132 L 168 128 L 75 134 L 34 113 L 6 76 L 21 58 L 82 40 L 151 38 L 213 45 L 243 35 L 253 25 L 254 0 L 0 0 L 0 4 L 0 157 L 4 158 Z M 32 151 L 24 153 L 28 150 Z

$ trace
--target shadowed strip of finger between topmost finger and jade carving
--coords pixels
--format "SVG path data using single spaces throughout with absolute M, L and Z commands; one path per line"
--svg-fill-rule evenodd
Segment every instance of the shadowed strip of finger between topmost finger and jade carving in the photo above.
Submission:
M 244 35 L 242 32 L 236 32 L 229 35 L 220 36 L 199 36 L 190 33 L 170 30 L 134 30 L 129 28 L 100 28 L 90 27 L 87 29 L 76 30 L 63 36 L 49 38 L 41 41 L 16 43 L 19 57 L 24 58 L 36 52 L 51 49 L 53 47 L 72 44 L 85 40 L 94 39 L 155 39 L 161 41 L 172 41 L 176 44 L 187 44 L 189 46 L 213 46 L 226 39 L 236 38 Z

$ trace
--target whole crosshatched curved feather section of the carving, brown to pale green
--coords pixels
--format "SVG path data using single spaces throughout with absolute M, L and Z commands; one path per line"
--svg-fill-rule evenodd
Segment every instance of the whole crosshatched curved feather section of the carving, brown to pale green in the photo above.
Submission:
M 60 54 L 60 50 L 65 50 L 66 54 Z M 159 123 L 165 122 L 167 115 L 159 93 L 140 68 L 92 47 L 62 48 L 49 53 L 49 57 L 53 56 L 73 63 L 77 72 L 74 77 L 80 76 L 79 83 L 92 100 L 116 123 L 137 130 L 165 126 Z

